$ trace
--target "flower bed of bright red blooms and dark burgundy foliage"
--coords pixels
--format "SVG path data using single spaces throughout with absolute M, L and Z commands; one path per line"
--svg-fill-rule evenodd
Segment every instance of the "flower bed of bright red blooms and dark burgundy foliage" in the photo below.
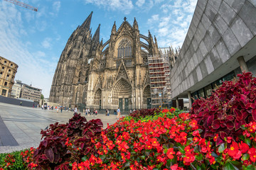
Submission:
M 41 145 L 23 160 L 28 169 L 256 169 L 256 79 L 238 77 L 190 113 L 138 111 L 105 130 L 100 120 L 75 115 L 42 131 Z

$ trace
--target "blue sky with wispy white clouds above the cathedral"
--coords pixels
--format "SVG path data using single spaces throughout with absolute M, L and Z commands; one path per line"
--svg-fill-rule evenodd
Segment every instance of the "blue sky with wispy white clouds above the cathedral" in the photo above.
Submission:
M 134 17 L 142 35 L 156 35 L 159 47 L 181 47 L 197 0 L 23 0 L 32 11 L 0 0 L 0 56 L 18 64 L 15 79 L 42 89 L 45 98 L 68 38 L 89 16 L 92 34 L 100 24 L 100 40 L 110 39 Z

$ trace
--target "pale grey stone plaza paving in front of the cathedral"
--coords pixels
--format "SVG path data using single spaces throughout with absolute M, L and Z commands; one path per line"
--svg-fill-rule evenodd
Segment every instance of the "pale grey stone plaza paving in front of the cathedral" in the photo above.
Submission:
M 41 129 L 45 129 L 55 122 L 68 123 L 72 117 L 73 112 L 71 111 L 57 113 L 41 108 L 0 103 L 0 153 L 38 147 L 41 142 Z M 104 128 L 107 128 L 107 123 L 112 125 L 117 121 L 116 115 L 111 113 L 110 116 L 106 116 L 103 111 L 97 117 L 86 116 L 86 118 L 87 121 L 101 119 Z

